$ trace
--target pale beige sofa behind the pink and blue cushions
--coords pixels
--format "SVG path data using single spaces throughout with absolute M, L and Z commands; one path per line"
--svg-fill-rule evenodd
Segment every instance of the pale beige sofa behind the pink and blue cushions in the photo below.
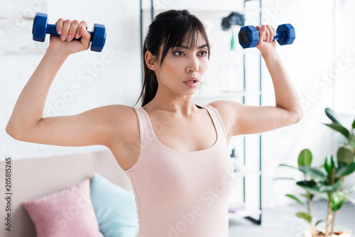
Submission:
M 5 161 L 0 161 L 0 184 L 5 194 Z M 24 202 L 69 189 L 89 178 L 94 172 L 113 184 L 132 192 L 129 178 L 110 150 L 78 155 L 11 160 L 11 232 L 4 228 L 6 199 L 1 197 L 1 237 L 36 236 L 35 224 Z M 133 195 L 133 192 L 132 192 Z M 3 196 L 3 195 L 1 195 Z

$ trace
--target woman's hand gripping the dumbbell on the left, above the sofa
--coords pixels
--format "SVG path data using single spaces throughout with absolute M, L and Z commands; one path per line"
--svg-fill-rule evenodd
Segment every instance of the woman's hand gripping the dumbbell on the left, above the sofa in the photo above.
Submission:
M 60 34 L 60 37 L 50 35 L 50 50 L 55 50 L 67 56 L 89 48 L 91 34 L 87 32 L 87 23 L 85 21 L 64 21 L 64 19 L 60 18 L 56 25 L 57 33 Z M 81 40 L 73 40 L 73 38 L 80 37 Z

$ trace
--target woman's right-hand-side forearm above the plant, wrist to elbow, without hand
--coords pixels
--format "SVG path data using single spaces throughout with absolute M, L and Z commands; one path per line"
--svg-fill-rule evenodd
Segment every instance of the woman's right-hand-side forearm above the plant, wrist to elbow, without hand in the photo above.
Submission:
M 263 54 L 263 59 L 273 80 L 275 105 L 286 109 L 290 113 L 301 113 L 300 116 L 302 116 L 300 98 L 278 53 L 274 51 L 273 53 Z

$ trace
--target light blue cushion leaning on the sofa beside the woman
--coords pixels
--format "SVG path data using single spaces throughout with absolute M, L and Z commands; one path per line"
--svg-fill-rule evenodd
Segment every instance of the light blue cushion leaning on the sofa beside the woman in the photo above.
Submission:
M 134 194 L 94 172 L 90 184 L 92 205 L 105 237 L 134 237 L 138 215 Z

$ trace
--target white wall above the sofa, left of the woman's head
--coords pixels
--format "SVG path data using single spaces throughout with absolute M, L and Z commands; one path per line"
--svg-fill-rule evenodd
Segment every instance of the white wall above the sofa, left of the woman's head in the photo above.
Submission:
M 70 55 L 62 66 L 50 87 L 43 116 L 79 114 L 108 104 L 133 106 L 138 99 L 141 87 L 139 2 L 23 0 L 16 4 L 5 1 L 4 5 L 8 7 L 0 10 L 0 16 L 4 17 L 0 21 L 0 159 L 5 155 L 21 159 L 106 149 L 101 145 L 73 148 L 23 143 L 5 132 L 18 95 L 48 47 L 48 36 L 45 43 L 32 40 L 33 19 L 25 20 L 22 16 L 48 13 L 49 23 L 55 23 L 60 17 L 76 18 L 87 21 L 89 31 L 94 23 L 106 26 L 107 41 L 102 53 L 87 50 Z

